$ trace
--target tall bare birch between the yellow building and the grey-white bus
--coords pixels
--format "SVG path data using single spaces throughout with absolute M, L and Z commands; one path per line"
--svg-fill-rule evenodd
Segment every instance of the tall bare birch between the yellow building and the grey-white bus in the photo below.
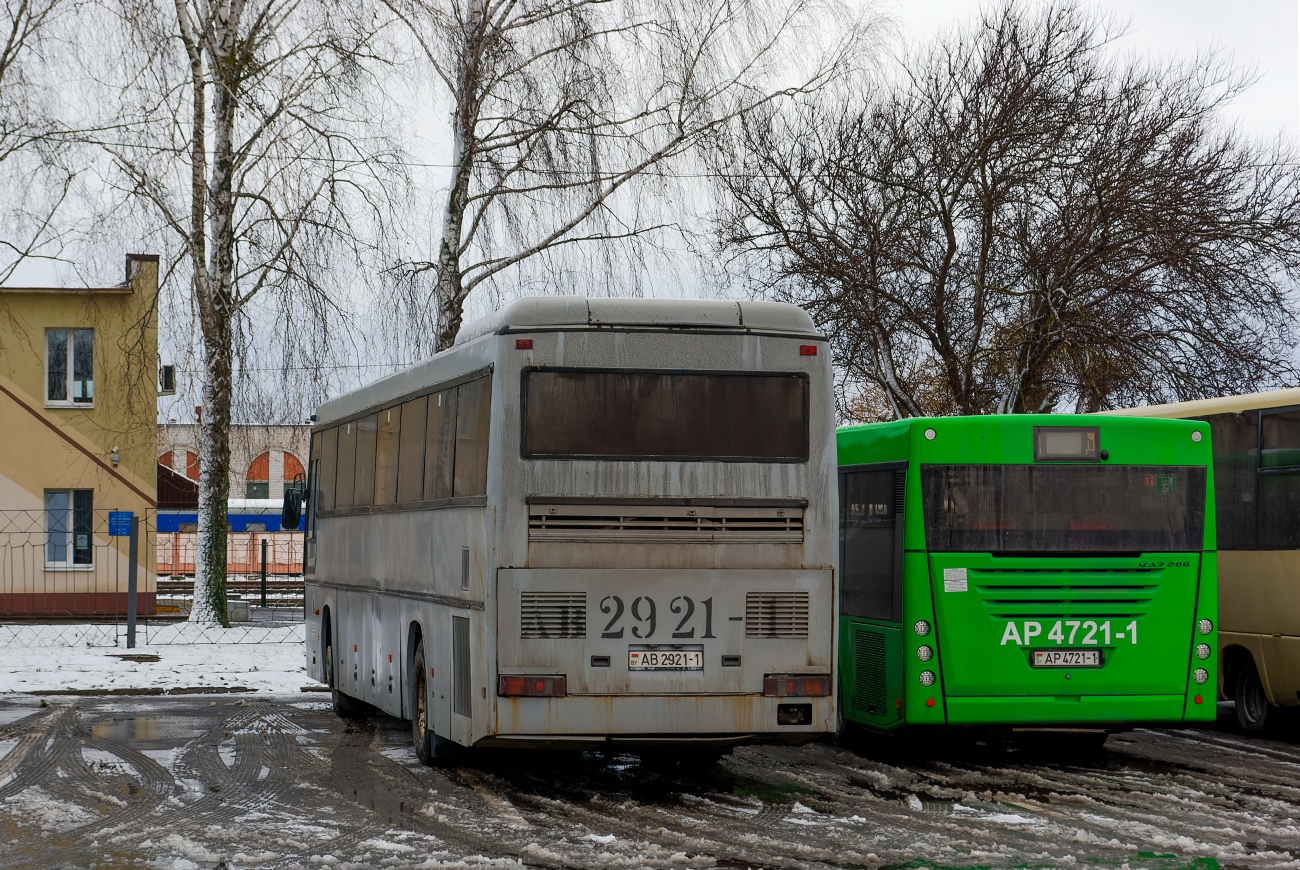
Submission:
M 316 321 L 347 315 L 332 257 L 363 244 L 395 178 L 385 140 L 367 133 L 382 104 L 368 73 L 377 36 L 364 5 L 330 0 L 124 1 L 135 62 L 120 135 L 105 147 L 112 182 L 172 241 L 173 278 L 187 283 L 200 326 L 191 619 L 226 624 L 240 330 L 268 297 Z

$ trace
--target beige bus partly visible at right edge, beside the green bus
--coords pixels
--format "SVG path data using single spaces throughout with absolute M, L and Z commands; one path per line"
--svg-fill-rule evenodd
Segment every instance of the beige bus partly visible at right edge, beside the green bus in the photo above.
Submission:
M 1300 706 L 1300 389 L 1112 414 L 1210 424 L 1219 697 L 1262 731 L 1275 707 Z

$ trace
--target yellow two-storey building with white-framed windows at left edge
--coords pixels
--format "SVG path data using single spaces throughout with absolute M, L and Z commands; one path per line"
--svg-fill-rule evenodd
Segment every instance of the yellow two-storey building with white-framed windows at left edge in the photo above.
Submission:
M 153 611 L 159 259 L 109 287 L 0 287 L 0 616 Z

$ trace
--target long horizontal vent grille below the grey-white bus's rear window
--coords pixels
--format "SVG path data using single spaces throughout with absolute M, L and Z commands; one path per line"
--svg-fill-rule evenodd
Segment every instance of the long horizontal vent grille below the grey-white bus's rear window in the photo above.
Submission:
M 802 507 L 530 505 L 530 541 L 802 544 Z

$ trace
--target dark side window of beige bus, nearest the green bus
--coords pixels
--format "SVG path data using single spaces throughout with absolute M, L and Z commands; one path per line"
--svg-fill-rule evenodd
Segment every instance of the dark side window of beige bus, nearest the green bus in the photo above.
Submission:
M 1218 549 L 1254 549 L 1257 451 L 1260 414 L 1216 414 L 1210 424 L 1214 447 L 1214 519 Z

